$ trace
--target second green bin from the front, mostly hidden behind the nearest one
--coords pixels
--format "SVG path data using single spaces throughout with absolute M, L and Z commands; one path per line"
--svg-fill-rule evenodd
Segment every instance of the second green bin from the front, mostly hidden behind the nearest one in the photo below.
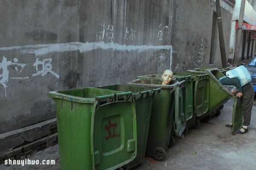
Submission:
M 131 169 L 144 161 L 153 98 L 161 89 L 133 86 L 129 84 L 114 84 L 98 88 L 111 89 L 120 92 L 132 92 L 137 118 L 137 156 L 133 161 L 123 166 L 126 170 Z

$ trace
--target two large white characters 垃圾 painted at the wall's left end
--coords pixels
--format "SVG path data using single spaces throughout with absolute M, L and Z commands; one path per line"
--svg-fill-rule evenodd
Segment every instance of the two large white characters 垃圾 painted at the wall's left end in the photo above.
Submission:
M 14 62 L 12 61 L 7 61 L 7 58 L 3 56 L 2 61 L 0 61 L 0 72 L 2 72 L 2 74 L 0 74 L 0 85 L 3 86 L 5 94 L 4 97 L 6 98 L 6 88 L 7 88 L 7 84 L 9 81 L 9 68 L 11 66 L 14 66 L 15 71 L 17 72 L 17 74 L 19 74 L 20 72 L 22 72 L 24 70 L 24 67 L 26 66 L 25 63 L 18 63 L 18 59 L 14 58 L 13 59 Z M 54 75 L 56 78 L 59 78 L 60 76 L 52 71 L 52 58 L 48 58 L 48 59 L 44 59 L 43 61 L 40 61 L 38 58 L 36 59 L 35 63 L 33 63 L 33 66 L 35 67 L 35 71 L 36 73 L 32 74 L 32 76 L 37 76 L 37 75 L 41 75 L 41 76 L 45 76 L 47 75 L 47 73 L 51 73 L 52 75 Z M 40 68 L 42 68 L 41 70 L 38 70 L 38 66 L 41 65 Z M 27 77 L 11 77 L 11 79 L 29 79 L 29 76 Z

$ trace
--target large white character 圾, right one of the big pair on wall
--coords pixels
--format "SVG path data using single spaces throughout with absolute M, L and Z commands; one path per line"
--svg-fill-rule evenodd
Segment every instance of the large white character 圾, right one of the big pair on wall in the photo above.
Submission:
M 39 59 L 37 58 L 35 63 L 33 63 L 33 66 L 35 66 L 35 70 L 37 72 L 32 74 L 32 76 L 36 76 L 36 75 L 45 76 L 49 72 L 49 73 L 52 73 L 52 75 L 54 75 L 56 78 L 60 78 L 60 76 L 57 73 L 52 71 L 51 62 L 52 62 L 52 58 L 44 59 L 43 61 L 39 61 Z M 42 65 L 42 70 L 38 71 L 39 65 Z

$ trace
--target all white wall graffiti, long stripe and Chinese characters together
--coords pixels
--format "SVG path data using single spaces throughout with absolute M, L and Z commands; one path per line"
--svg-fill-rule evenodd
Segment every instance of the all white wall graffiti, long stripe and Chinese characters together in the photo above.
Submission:
M 168 35 L 168 26 L 163 26 L 160 24 L 158 26 L 157 39 L 158 40 L 166 40 L 166 36 Z M 125 51 L 134 51 L 138 52 L 146 51 L 146 50 L 167 50 L 168 52 L 161 53 L 159 56 L 159 67 L 166 67 L 166 62 L 170 57 L 170 66 L 171 66 L 171 54 L 172 54 L 172 46 L 170 45 L 126 45 L 114 43 L 114 26 L 110 23 L 99 23 L 99 32 L 96 31 L 96 42 L 69 42 L 69 43 L 55 43 L 55 44 L 37 44 L 37 45 L 27 45 L 27 46 L 10 46 L 10 47 L 0 47 L 0 50 L 20 50 L 22 54 L 35 54 L 35 56 L 43 56 L 48 55 L 55 52 L 70 52 L 79 50 L 80 52 L 87 52 L 94 49 L 113 49 L 113 50 L 125 50 Z M 136 30 L 132 27 L 125 27 L 123 39 L 134 41 L 136 40 Z M 168 53 L 170 52 L 170 56 Z M 42 59 L 36 58 L 35 62 L 32 64 L 35 68 L 35 72 L 31 73 L 31 75 L 26 76 L 18 76 L 24 75 L 24 69 L 28 66 L 28 63 L 20 63 L 17 58 L 14 58 L 13 61 L 8 61 L 6 57 L 0 58 L 0 87 L 3 86 L 5 89 L 5 98 L 6 98 L 6 88 L 8 86 L 8 82 L 10 79 L 12 80 L 24 80 L 29 79 L 31 76 L 45 76 L 48 73 L 54 75 L 56 78 L 60 76 L 54 72 L 52 69 L 52 58 Z M 16 73 L 10 72 L 9 68 L 13 68 Z M 12 75 L 13 77 L 10 77 Z M 15 76 L 17 75 L 17 76 Z

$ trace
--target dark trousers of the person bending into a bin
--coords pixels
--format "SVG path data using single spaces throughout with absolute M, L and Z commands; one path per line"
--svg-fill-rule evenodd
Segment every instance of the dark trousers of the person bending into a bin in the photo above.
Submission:
M 246 86 L 246 89 L 243 92 L 243 96 L 242 96 L 244 126 L 249 126 L 250 120 L 251 120 L 252 108 L 253 108 L 254 88 L 253 88 L 253 84 L 251 83 L 248 83 L 244 86 Z

